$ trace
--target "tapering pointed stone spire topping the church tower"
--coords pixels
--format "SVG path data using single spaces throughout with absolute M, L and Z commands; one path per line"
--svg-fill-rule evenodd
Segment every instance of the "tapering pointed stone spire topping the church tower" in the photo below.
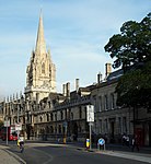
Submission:
M 46 43 L 44 38 L 44 26 L 43 26 L 43 14 L 40 11 L 39 23 L 38 23 L 38 32 L 37 32 L 37 40 L 36 40 L 36 54 L 46 54 Z

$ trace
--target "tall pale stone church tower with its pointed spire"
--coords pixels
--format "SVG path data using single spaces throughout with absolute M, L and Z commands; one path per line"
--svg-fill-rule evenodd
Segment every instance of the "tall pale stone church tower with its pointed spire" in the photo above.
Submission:
M 26 69 L 25 97 L 27 99 L 43 99 L 49 93 L 56 92 L 56 67 L 50 58 L 50 50 L 46 50 L 44 37 L 43 15 L 40 12 L 35 50 Z

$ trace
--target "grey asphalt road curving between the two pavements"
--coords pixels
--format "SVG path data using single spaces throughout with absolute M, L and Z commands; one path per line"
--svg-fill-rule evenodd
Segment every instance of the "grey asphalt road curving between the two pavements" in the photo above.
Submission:
M 24 153 L 20 153 L 18 147 L 12 143 L 10 151 L 27 164 L 147 164 L 63 144 L 26 143 Z

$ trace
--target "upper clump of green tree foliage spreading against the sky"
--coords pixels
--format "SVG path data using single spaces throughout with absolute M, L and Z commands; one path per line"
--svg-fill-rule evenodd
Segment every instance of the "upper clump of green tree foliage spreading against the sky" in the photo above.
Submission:
M 111 54 L 114 68 L 128 67 L 151 60 L 151 13 L 140 23 L 128 21 L 123 24 L 120 34 L 114 35 L 104 47 Z

